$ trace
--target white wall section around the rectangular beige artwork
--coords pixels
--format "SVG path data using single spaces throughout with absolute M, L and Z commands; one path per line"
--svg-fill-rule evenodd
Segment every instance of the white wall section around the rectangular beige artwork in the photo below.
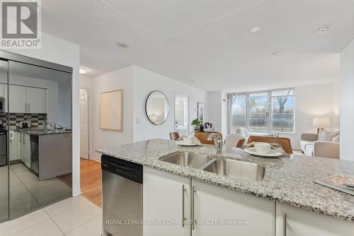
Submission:
M 93 150 L 132 143 L 132 73 L 133 66 L 128 66 L 93 78 Z M 123 131 L 100 129 L 100 93 L 120 89 L 123 90 Z M 101 155 L 93 152 L 93 158 L 101 160 Z

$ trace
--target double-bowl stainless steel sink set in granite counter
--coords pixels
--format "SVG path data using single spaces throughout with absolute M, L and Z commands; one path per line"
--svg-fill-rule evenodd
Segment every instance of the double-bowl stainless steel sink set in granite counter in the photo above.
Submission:
M 159 158 L 159 160 L 175 165 L 205 170 L 217 175 L 227 175 L 253 181 L 263 179 L 265 174 L 265 167 L 256 163 L 224 158 L 214 159 L 208 155 L 196 153 L 178 152 Z

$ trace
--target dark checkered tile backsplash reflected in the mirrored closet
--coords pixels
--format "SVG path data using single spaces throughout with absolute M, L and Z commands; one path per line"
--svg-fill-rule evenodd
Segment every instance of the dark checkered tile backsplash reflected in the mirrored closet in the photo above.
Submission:
M 38 113 L 9 113 L 10 118 L 10 129 L 18 129 L 21 126 L 21 122 L 30 120 L 31 126 L 40 126 L 45 124 L 45 119 L 47 119 L 47 114 Z M 2 125 L 7 125 L 7 114 L 0 113 L 0 120 Z

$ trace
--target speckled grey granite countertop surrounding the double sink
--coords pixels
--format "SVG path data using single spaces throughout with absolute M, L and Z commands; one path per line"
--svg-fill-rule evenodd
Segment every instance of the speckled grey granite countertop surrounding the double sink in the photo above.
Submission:
M 215 175 L 190 167 L 165 163 L 159 158 L 178 151 L 207 154 L 214 158 L 229 158 L 258 163 L 265 166 L 261 181 Z M 152 139 L 116 148 L 98 149 L 98 153 L 122 160 L 191 177 L 227 189 L 253 194 L 309 211 L 354 221 L 354 196 L 315 184 L 315 179 L 337 174 L 354 175 L 354 162 L 327 158 L 312 158 L 292 155 L 284 158 L 256 158 L 239 148 L 224 148 L 222 155 L 216 155 L 215 147 L 184 148 L 175 141 Z

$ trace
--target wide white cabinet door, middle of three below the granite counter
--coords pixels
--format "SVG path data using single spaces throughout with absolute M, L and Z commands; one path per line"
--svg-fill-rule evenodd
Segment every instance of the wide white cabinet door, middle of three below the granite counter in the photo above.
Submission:
M 193 236 L 275 235 L 275 202 L 195 180 L 192 186 Z

